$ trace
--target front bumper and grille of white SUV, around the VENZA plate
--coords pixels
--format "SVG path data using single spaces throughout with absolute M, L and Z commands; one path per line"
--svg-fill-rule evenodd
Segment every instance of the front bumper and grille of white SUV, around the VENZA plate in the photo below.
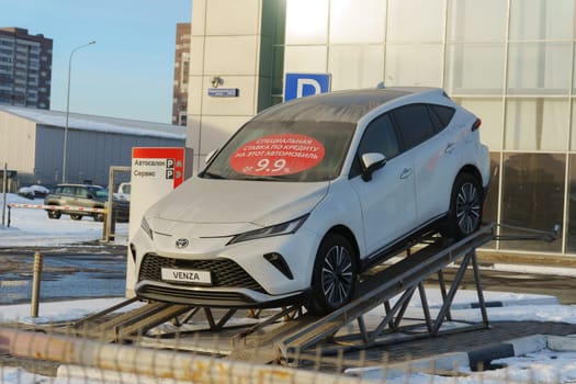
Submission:
M 191 239 L 187 252 L 158 246 L 138 229 L 135 253 L 139 297 L 213 307 L 276 307 L 306 295 L 319 238 L 304 228 L 296 234 L 226 246 L 229 238 Z M 173 238 L 163 245 L 173 244 Z M 192 246 L 193 245 L 193 246 Z M 283 266 L 267 256 L 282 256 Z M 279 267 L 280 266 L 280 267 Z M 283 267 L 283 268 L 282 268 Z M 208 271 L 210 285 L 162 280 L 161 270 Z M 289 273 L 286 272 L 289 270 Z

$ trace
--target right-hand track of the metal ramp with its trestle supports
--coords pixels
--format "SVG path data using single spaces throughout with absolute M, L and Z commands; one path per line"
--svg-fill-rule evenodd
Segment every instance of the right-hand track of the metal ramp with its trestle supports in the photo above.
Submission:
M 250 338 L 249 332 L 245 332 L 239 335 L 235 341 L 241 342 L 244 339 L 245 350 L 242 354 L 247 354 L 246 347 L 252 347 L 256 351 L 263 346 L 274 345 L 276 353 L 281 358 L 287 359 L 294 355 L 302 355 L 306 350 L 327 340 L 330 342 L 324 346 L 324 351 L 327 351 L 329 346 L 370 348 L 376 345 L 385 345 L 388 341 L 382 339 L 382 337 L 398 331 L 407 331 L 410 335 L 408 338 L 414 339 L 452 331 L 487 328 L 489 324 L 475 250 L 493 239 L 493 225 L 485 226 L 477 233 L 450 246 L 443 246 L 443 240 L 437 238 L 436 241 L 419 248 L 411 255 L 408 251 L 403 260 L 369 276 L 361 282 L 351 303 L 329 315 L 318 318 L 304 314 L 293 320 L 292 324 L 287 323 L 273 332 L 261 332 L 263 336 L 255 338 Z M 442 270 L 453 262 L 460 262 L 460 267 L 450 289 L 447 291 Z M 453 321 L 450 308 L 462 279 L 471 264 L 478 295 L 477 307 L 482 313 L 483 320 L 479 324 L 466 324 L 464 327 L 442 330 L 441 327 L 445 320 Z M 430 315 L 423 287 L 425 280 L 433 273 L 438 274 L 443 298 L 443 304 L 436 318 L 432 318 Z M 407 306 L 416 290 L 419 291 L 422 304 L 423 331 L 417 330 L 422 328 L 421 323 L 400 327 L 400 323 L 405 319 Z M 394 306 L 391 306 L 391 300 L 400 294 L 400 298 L 396 301 Z M 384 306 L 386 316 L 373 329 L 369 329 L 364 320 L 365 314 L 380 305 Z M 358 323 L 358 334 L 343 337 L 337 336 L 340 329 L 353 321 Z M 250 329 L 250 332 L 257 332 L 262 327 L 266 327 L 266 324 L 253 327 Z M 398 338 L 394 338 L 392 342 L 398 342 Z

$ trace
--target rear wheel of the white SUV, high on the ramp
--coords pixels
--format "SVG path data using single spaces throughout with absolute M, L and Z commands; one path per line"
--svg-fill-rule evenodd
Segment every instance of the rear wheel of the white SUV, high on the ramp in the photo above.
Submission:
M 460 173 L 452 187 L 445 236 L 461 239 L 481 227 L 484 196 L 482 185 L 470 173 Z

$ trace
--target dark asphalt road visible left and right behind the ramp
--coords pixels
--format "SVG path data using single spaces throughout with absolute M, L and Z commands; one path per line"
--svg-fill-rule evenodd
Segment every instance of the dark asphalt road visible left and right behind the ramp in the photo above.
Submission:
M 125 246 L 92 241 L 67 247 L 9 247 L 0 248 L 0 304 L 30 302 L 35 252 L 43 256 L 43 301 L 124 295 Z M 489 262 L 484 262 L 484 267 L 481 278 L 486 291 L 551 295 L 561 304 L 576 304 L 576 273 L 571 276 L 499 271 Z M 445 269 L 444 279 L 452 281 L 455 272 L 454 268 Z M 438 286 L 436 275 L 428 282 Z M 476 289 L 472 271 L 460 289 Z

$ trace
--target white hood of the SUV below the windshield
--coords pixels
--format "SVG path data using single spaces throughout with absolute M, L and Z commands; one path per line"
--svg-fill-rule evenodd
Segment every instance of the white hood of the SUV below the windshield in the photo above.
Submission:
M 153 205 L 148 218 L 189 224 L 270 226 L 309 213 L 330 183 L 193 178 Z

